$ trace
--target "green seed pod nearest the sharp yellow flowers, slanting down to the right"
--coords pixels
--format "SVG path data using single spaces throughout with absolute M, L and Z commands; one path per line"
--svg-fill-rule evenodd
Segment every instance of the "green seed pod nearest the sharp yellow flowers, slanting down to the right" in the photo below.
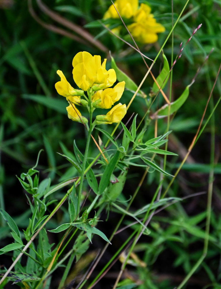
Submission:
M 125 81 L 125 88 L 133 92 L 137 90 L 138 86 L 136 85 L 136 83 L 117 67 L 117 64 L 115 63 L 115 60 L 112 56 L 111 56 L 111 68 L 115 70 L 118 81 Z M 139 90 L 137 95 L 143 98 L 147 97 L 147 95 L 142 90 Z

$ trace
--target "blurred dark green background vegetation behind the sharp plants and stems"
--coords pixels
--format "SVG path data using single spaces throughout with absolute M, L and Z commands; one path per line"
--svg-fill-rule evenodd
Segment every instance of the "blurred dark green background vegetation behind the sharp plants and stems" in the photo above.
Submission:
M 166 32 L 159 34 L 158 42 L 153 45 L 140 45 L 142 53 L 154 59 L 172 27 L 171 1 L 141 2 L 149 3 L 157 21 L 166 28 Z M 174 22 L 185 3 L 184 0 L 173 1 Z M 66 101 L 55 90 L 54 84 L 59 80 L 56 71 L 62 70 L 73 85 L 72 59 L 76 53 L 88 51 L 92 55 L 101 55 L 102 59 L 108 58 L 107 67 L 110 67 L 109 50 L 119 67 L 136 84 L 140 83 L 147 71 L 138 53 L 107 32 L 101 25 L 91 27 L 89 24 L 101 19 L 110 5 L 111 2 L 108 0 L 45 0 L 44 3 L 0 0 L 0 205 L 15 217 L 21 229 L 28 224 L 29 211 L 25 193 L 16 175 L 19 176 L 32 167 L 36 162 L 38 151 L 44 148 L 38 165 L 40 179 L 50 176 L 52 181 L 57 183 L 72 177 L 76 172 L 56 152 L 61 153 L 64 146 L 72 151 L 74 139 L 80 149 L 83 150 L 85 146 L 85 131 L 80 124 L 73 123 L 67 118 Z M 65 19 L 69 22 L 66 23 Z M 197 68 L 203 64 L 206 55 L 212 48 L 214 51 L 191 86 L 188 100 L 175 115 L 171 124 L 170 129 L 173 132 L 169 138 L 168 149 L 179 156 L 168 158 L 167 170 L 170 173 L 179 166 L 196 133 L 218 72 L 221 60 L 220 21 L 220 0 L 193 0 L 188 3 L 174 29 L 173 50 L 176 55 L 180 43 L 186 43 L 193 30 L 200 23 L 203 24 L 185 47 L 181 58 L 173 68 L 172 99 L 175 100 L 181 95 L 185 87 L 191 83 Z M 94 37 L 95 40 L 92 41 Z M 130 41 L 129 38 L 127 40 Z M 171 51 L 172 38 L 169 38 L 164 47 L 169 63 Z M 155 76 L 159 74 L 161 66 L 160 57 L 152 69 Z M 152 85 L 153 80 L 149 76 L 142 87 L 147 95 Z M 168 95 L 169 86 L 165 88 L 165 92 Z M 218 78 L 205 120 L 220 94 L 221 83 Z M 125 92 L 123 103 L 127 104 L 131 97 L 131 92 Z M 154 112 L 163 104 L 164 100 L 159 96 L 151 111 Z M 135 98 L 123 120 L 124 123 L 133 112 L 138 113 L 139 119 L 143 117 L 146 112 L 144 99 Z M 188 282 L 186 286 L 188 289 L 221 288 L 220 115 L 221 108 L 218 105 L 214 116 L 205 127 L 190 158 L 169 191 L 169 196 L 173 197 L 207 192 L 208 175 L 211 169 L 211 132 L 215 133 L 215 177 L 209 251 L 202 266 Z M 154 122 L 148 119 L 147 123 L 148 140 L 154 137 Z M 106 126 L 105 129 L 111 132 L 113 127 Z M 166 121 L 158 120 L 158 135 L 163 134 L 165 129 Z M 97 153 L 96 147 L 91 146 L 91 157 Z M 124 191 L 126 198 L 129 198 L 136 189 L 142 175 L 140 170 L 133 169 L 130 172 L 130 180 L 126 183 Z M 165 181 L 164 186 L 166 187 L 167 184 L 168 181 Z M 133 203 L 133 208 L 138 209 L 144 203 L 149 203 L 157 186 L 156 175 L 149 174 Z M 126 276 L 141 281 L 139 288 L 177 286 L 202 254 L 206 203 L 207 194 L 203 194 L 169 206 L 156 215 L 150 224 L 151 235 L 142 237 L 136 248 L 136 253 L 147 266 L 137 268 L 128 266 Z M 114 224 L 116 218 L 118 215 L 112 213 L 109 216 L 109 223 Z M 3 219 L 0 221 L 1 247 L 3 247 L 8 241 L 6 238 L 8 231 L 4 229 Z M 109 236 L 108 230 L 112 230 L 111 225 L 108 228 L 105 227 L 105 223 L 99 225 Z M 103 262 L 108 260 L 126 237 L 125 232 L 121 237 L 116 238 Z M 103 243 L 100 244 L 100 240 L 96 239 L 91 250 L 102 246 Z M 5 258 L 4 266 L 8 267 L 10 264 L 10 258 Z M 114 283 L 115 279 L 111 278 L 117 276 L 119 268 L 120 262 L 109 275 L 107 274 L 110 278 L 108 284 Z M 103 288 L 105 282 L 107 279 L 104 278 L 103 285 L 97 284 L 95 288 Z M 54 286 L 51 288 L 56 288 L 56 278 Z

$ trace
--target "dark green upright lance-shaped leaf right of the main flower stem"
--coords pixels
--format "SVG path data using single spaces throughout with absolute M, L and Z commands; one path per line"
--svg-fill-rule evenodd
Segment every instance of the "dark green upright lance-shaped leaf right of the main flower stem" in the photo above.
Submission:
M 98 194 L 102 194 L 104 192 L 104 190 L 106 189 L 106 187 L 109 185 L 110 183 L 110 176 L 113 173 L 117 161 L 118 161 L 118 157 L 119 157 L 120 152 L 117 151 L 115 153 L 115 155 L 113 155 L 112 159 L 110 160 L 109 164 L 106 166 L 104 173 L 101 177 L 100 180 L 100 184 L 99 184 L 99 188 L 98 188 Z

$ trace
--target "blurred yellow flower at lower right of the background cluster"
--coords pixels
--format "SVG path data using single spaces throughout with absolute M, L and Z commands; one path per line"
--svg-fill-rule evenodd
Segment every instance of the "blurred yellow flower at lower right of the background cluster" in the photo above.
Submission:
M 151 8 L 141 3 L 140 8 L 134 14 L 134 23 L 128 26 L 128 30 L 141 43 L 154 43 L 158 40 L 157 33 L 164 32 L 165 28 L 156 22 L 153 14 L 150 14 Z

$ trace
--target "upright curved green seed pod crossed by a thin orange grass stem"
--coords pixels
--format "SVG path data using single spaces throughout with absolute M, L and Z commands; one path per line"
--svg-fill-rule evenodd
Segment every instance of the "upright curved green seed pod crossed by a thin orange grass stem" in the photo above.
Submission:
M 166 56 L 163 53 L 163 58 L 164 58 L 164 66 L 160 72 L 160 74 L 158 75 L 158 77 L 156 78 L 156 81 L 158 82 L 159 86 L 161 89 L 164 88 L 164 86 L 166 85 L 168 78 L 169 78 L 169 73 L 170 73 L 170 67 L 169 67 L 169 63 L 166 59 Z M 156 85 L 156 82 L 154 82 L 150 96 L 154 96 L 158 93 L 159 88 Z

